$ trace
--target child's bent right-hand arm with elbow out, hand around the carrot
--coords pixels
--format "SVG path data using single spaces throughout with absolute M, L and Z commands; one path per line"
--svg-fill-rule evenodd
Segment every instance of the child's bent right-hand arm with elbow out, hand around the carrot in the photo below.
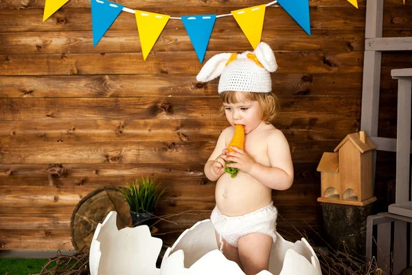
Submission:
M 240 168 L 269 188 L 286 190 L 293 184 L 293 164 L 288 141 L 279 130 L 271 131 L 267 139 L 271 167 L 255 162 L 246 152 L 236 147 L 236 153 L 229 153 L 233 156 L 228 160 L 237 163 L 228 166 Z

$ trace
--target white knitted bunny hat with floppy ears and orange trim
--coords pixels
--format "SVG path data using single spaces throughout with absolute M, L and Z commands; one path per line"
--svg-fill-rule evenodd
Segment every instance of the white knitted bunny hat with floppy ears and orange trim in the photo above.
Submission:
M 271 72 L 277 70 L 271 47 L 260 42 L 253 52 L 216 54 L 205 63 L 196 80 L 207 82 L 220 76 L 218 93 L 223 91 L 272 91 Z

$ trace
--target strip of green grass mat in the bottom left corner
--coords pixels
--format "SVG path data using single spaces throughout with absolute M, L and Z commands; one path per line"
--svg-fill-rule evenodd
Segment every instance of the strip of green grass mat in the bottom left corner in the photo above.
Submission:
M 41 272 L 48 259 L 0 259 L 0 275 L 29 275 Z

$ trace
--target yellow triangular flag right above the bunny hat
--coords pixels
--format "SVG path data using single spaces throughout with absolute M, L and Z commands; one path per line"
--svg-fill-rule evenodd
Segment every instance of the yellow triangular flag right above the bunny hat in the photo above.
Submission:
M 262 37 L 265 10 L 266 5 L 255 5 L 251 8 L 231 11 L 253 49 L 258 46 Z

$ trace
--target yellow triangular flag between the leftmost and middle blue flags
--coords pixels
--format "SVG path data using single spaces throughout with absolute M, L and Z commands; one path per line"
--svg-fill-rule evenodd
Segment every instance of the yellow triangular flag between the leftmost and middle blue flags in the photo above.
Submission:
M 166 23 L 168 23 L 170 15 L 144 12 L 142 10 L 135 10 L 135 12 L 141 52 L 146 61 L 152 47 L 155 45 L 163 28 L 165 28 Z

